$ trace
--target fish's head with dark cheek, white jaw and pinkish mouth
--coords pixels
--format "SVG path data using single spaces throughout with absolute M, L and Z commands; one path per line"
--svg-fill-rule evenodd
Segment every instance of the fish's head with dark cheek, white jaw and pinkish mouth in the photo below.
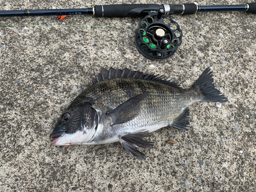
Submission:
M 66 110 L 60 115 L 50 138 L 52 145 L 83 144 L 90 141 L 98 126 L 97 111 L 89 104 Z

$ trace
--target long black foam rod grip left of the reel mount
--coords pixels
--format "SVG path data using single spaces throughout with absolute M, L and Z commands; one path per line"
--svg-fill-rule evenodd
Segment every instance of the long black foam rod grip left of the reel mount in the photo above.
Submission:
M 160 5 L 157 4 L 120 4 L 120 5 L 95 5 L 96 17 L 140 17 L 148 14 L 148 11 L 157 12 Z

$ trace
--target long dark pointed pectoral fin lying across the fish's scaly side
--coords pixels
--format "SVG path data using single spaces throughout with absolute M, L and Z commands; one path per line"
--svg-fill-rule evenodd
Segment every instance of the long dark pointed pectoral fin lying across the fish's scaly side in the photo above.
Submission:
M 140 113 L 140 102 L 149 93 L 142 93 L 120 104 L 116 109 L 106 113 L 112 118 L 112 125 L 126 123 L 133 120 Z

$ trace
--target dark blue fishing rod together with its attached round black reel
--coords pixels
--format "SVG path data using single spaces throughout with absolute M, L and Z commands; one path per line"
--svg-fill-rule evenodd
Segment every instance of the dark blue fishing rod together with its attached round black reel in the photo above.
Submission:
M 244 5 L 191 4 L 122 4 L 95 5 L 84 9 L 40 9 L 0 11 L 0 17 L 56 15 L 63 19 L 66 15 L 94 15 L 95 17 L 144 17 L 140 20 L 135 35 L 138 50 L 153 60 L 163 60 L 174 55 L 182 42 L 179 25 L 168 15 L 194 14 L 208 11 L 245 11 L 256 13 L 256 3 Z

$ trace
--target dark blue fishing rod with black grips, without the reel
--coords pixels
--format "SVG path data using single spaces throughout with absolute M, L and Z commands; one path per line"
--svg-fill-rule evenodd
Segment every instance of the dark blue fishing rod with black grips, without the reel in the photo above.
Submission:
M 95 15 L 96 17 L 141 17 L 150 13 L 164 10 L 164 15 L 194 14 L 208 11 L 246 11 L 256 13 L 256 3 L 245 5 L 210 5 L 199 6 L 192 4 L 123 4 L 123 5 L 95 5 L 85 9 L 39 9 L 39 10 L 9 10 L 0 11 L 0 17 L 11 16 L 43 16 L 43 15 Z

